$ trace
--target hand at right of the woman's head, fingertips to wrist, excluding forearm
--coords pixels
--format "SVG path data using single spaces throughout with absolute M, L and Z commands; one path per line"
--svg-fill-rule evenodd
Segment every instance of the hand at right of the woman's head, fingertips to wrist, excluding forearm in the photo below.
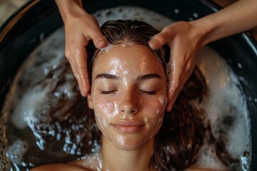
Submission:
M 191 75 L 196 65 L 196 55 L 201 48 L 203 31 L 199 30 L 192 22 L 179 21 L 170 24 L 153 36 L 149 45 L 153 49 L 160 48 L 167 43 L 171 48 L 169 75 L 168 105 L 166 110 L 171 110 L 178 93 Z

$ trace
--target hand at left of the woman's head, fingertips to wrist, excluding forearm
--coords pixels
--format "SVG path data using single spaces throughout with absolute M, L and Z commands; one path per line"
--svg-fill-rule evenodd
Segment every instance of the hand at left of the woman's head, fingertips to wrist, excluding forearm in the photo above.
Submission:
M 72 71 L 79 83 L 81 95 L 89 92 L 89 79 L 87 73 L 86 45 L 93 39 L 96 48 L 104 48 L 106 39 L 101 34 L 99 24 L 90 14 L 81 14 L 79 17 L 69 19 L 65 23 L 65 55 L 68 58 Z

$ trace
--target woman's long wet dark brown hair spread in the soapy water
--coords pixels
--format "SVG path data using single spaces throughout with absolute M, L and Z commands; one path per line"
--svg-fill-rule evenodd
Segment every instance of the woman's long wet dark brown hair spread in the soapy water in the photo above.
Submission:
M 151 48 L 148 46 L 148 41 L 158 33 L 156 28 L 143 21 L 131 20 L 107 21 L 101 26 L 101 30 L 109 43 L 135 43 L 149 49 Z M 94 58 L 101 57 L 97 57 L 99 49 L 95 48 L 92 42 L 87 46 L 87 53 L 90 78 Z M 169 49 L 162 47 L 153 53 L 166 71 Z M 55 73 L 56 71 L 58 72 Z M 94 149 L 101 144 L 101 132 L 95 123 L 94 111 L 88 108 L 86 98 L 79 93 L 74 77 L 68 75 L 72 75 L 71 68 L 68 61 L 64 60 L 46 76 L 44 81 L 39 83 L 43 86 L 51 83 L 49 96 L 56 100 L 54 103 L 47 104 L 49 108 L 44 113 L 45 117 L 50 118 L 47 122 L 51 127 L 47 128 L 42 124 L 46 122 L 45 120 L 39 120 L 39 123 L 34 126 L 34 132 L 41 135 L 41 140 L 44 142 L 51 142 L 57 135 L 61 135 L 69 141 L 69 143 L 64 142 L 66 152 L 69 153 L 75 145 L 76 150 L 73 153 L 82 157 L 94 152 Z M 60 88 L 65 83 L 71 85 L 69 90 L 71 95 L 62 91 L 56 97 L 56 92 L 60 92 Z M 156 170 L 184 170 L 196 161 L 205 132 L 204 110 L 199 105 L 205 94 L 205 79 L 201 71 L 195 68 L 178 95 L 171 112 L 165 113 L 163 125 L 156 135 L 152 157 Z M 49 130 L 52 130 L 51 134 Z

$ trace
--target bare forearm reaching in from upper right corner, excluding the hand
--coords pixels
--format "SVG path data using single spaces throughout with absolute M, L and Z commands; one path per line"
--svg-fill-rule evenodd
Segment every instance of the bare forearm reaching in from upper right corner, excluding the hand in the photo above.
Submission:
M 202 46 L 219 38 L 248 31 L 257 26 L 257 1 L 236 1 L 225 9 L 192 21 L 192 24 L 203 28 Z

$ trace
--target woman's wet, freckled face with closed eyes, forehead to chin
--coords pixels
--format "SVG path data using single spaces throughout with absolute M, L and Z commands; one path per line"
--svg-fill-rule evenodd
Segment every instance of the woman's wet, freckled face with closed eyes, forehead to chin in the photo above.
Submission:
M 104 138 L 121 149 L 135 150 L 163 123 L 163 67 L 146 46 L 111 46 L 94 62 L 88 100 Z

